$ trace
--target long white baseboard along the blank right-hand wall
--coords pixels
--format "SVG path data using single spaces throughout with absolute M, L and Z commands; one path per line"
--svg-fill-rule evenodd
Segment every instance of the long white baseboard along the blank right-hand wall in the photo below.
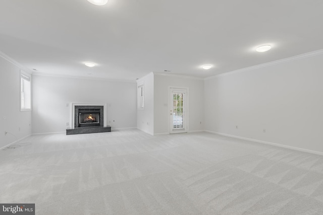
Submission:
M 311 154 L 315 154 L 315 155 L 323 155 L 323 152 L 307 150 L 307 149 L 298 148 L 298 147 L 291 147 L 291 146 L 286 146 L 286 145 L 282 145 L 282 144 L 276 144 L 275 142 L 267 142 L 267 141 L 262 141 L 262 140 L 259 140 L 259 139 L 252 139 L 252 138 L 246 138 L 246 137 L 242 137 L 242 136 L 235 136 L 235 135 L 231 135 L 231 134 L 220 133 L 220 132 L 210 131 L 210 130 L 204 130 L 204 131 L 208 132 L 208 133 L 219 134 L 219 135 L 222 135 L 222 136 L 228 136 L 228 137 L 233 137 L 233 138 L 237 138 L 237 139 L 243 139 L 243 140 L 249 140 L 249 141 L 252 141 L 252 142 L 258 142 L 260 144 L 266 144 L 266 145 L 281 147 L 281 148 L 285 148 L 285 149 L 311 153 Z

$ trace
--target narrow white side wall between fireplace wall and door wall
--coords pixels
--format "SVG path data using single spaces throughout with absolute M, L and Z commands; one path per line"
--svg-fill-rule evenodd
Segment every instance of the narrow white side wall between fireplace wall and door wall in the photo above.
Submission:
M 154 75 L 149 73 L 147 76 L 137 80 L 137 85 L 144 84 L 144 108 L 137 110 L 137 128 L 153 135 L 154 133 Z

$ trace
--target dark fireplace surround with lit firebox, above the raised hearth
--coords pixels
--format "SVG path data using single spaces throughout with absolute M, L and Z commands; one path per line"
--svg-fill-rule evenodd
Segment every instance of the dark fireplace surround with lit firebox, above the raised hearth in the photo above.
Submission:
M 103 126 L 103 106 L 75 106 L 75 127 Z

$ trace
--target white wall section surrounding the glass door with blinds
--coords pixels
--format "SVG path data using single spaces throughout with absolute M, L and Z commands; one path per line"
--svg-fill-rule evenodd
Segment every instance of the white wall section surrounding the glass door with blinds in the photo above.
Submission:
M 154 134 L 170 133 L 169 87 L 188 88 L 188 132 L 204 129 L 204 81 L 154 74 Z

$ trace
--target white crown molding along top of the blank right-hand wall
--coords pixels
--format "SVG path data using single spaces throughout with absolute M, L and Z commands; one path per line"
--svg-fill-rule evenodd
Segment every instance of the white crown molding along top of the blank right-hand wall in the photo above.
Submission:
M 222 74 L 219 74 L 216 76 L 207 77 L 204 80 L 215 79 L 215 78 L 224 77 L 224 76 L 230 76 L 230 75 L 234 75 L 234 74 L 238 74 L 238 73 L 243 73 L 244 71 L 250 71 L 253 69 L 258 69 L 258 68 L 273 66 L 273 65 L 277 65 L 277 64 L 281 64 L 281 63 L 291 62 L 294 60 L 299 60 L 299 59 L 303 59 L 303 58 L 307 58 L 307 57 L 313 57 L 313 56 L 320 55 L 320 54 L 323 54 L 323 49 L 311 51 L 308 53 L 299 54 L 299 55 L 295 55 L 292 57 L 287 57 L 284 59 L 275 60 L 275 61 L 271 61 L 271 62 L 267 62 L 267 63 L 262 63 L 262 64 L 258 64 L 258 65 L 254 65 L 254 66 L 249 66 L 246 68 L 241 68 L 241 69 L 229 71 L 227 73 L 222 73 Z

